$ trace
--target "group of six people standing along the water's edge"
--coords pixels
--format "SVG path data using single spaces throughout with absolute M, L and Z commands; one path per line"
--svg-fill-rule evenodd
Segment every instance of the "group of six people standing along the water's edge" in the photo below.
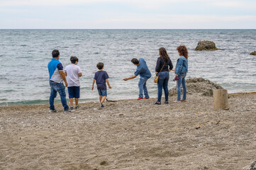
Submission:
M 157 64 L 155 67 L 155 74 L 157 79 L 157 101 L 154 105 L 161 105 L 162 98 L 162 89 L 165 91 L 165 104 L 168 104 L 169 91 L 168 91 L 168 82 L 169 82 L 169 72 L 175 72 L 174 81 L 177 81 L 177 101 L 172 101 L 172 103 L 179 103 L 181 101 L 186 101 L 187 98 L 187 88 L 185 77 L 188 72 L 188 50 L 185 45 L 180 45 L 177 47 L 177 51 L 179 53 L 179 59 L 177 60 L 177 64 L 175 69 L 173 69 L 172 60 L 170 60 L 169 55 L 165 47 L 160 47 L 159 55 L 157 58 Z M 65 69 L 63 69 L 62 64 L 59 61 L 60 52 L 59 50 L 52 51 L 52 60 L 48 63 L 48 71 L 50 76 L 50 113 L 57 112 L 54 106 L 54 99 L 57 96 L 57 93 L 60 94 L 62 106 L 64 107 L 65 113 L 72 112 L 73 109 L 78 109 L 79 107 L 79 96 L 80 96 L 80 83 L 79 77 L 82 77 L 82 71 L 79 66 L 77 66 L 78 58 L 70 57 L 71 64 L 67 65 Z M 128 77 L 123 79 L 124 81 L 128 81 L 129 79 L 134 79 L 140 75 L 140 80 L 138 83 L 139 87 L 139 97 L 138 100 L 148 99 L 150 98 L 147 89 L 147 81 L 152 76 L 150 70 L 148 69 L 148 65 L 143 58 L 139 60 L 133 58 L 131 62 L 137 66 L 137 69 L 132 77 Z M 97 90 L 99 92 L 99 102 L 101 108 L 104 108 L 104 101 L 107 96 L 107 88 L 106 84 L 108 84 L 108 88 L 111 89 L 111 85 L 108 81 L 108 74 L 104 71 L 104 63 L 99 62 L 96 64 L 96 67 L 99 69 L 98 72 L 94 74 L 94 80 L 92 83 L 91 90 L 94 90 L 94 84 L 96 82 Z M 67 79 L 66 79 L 67 77 Z M 64 84 L 63 84 L 64 81 Z M 183 87 L 183 98 L 181 99 L 181 85 Z M 68 89 L 69 93 L 69 106 L 67 105 L 65 86 Z M 144 91 L 144 97 L 143 97 Z M 73 98 L 75 101 L 75 107 L 73 106 Z

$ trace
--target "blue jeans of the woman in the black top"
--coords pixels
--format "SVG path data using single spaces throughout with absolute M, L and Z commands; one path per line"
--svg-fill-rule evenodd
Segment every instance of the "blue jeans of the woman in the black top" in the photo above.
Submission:
M 158 82 L 157 82 L 157 101 L 161 102 L 162 98 L 162 89 L 165 91 L 165 101 L 168 101 L 169 91 L 168 91 L 168 81 L 169 81 L 169 72 L 160 72 Z

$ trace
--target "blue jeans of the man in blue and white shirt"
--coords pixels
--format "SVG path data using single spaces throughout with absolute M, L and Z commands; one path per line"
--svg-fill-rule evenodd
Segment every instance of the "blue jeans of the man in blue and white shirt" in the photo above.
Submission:
M 65 86 L 62 83 L 55 83 L 53 81 L 50 81 L 50 110 L 55 110 L 54 99 L 57 96 L 57 92 L 60 94 L 60 100 L 64 107 L 64 111 L 67 111 L 69 106 L 67 106 Z

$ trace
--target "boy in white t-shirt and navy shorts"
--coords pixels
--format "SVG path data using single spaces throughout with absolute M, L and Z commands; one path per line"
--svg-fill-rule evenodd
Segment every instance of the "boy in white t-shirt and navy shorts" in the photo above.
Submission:
M 79 77 L 82 77 L 82 71 L 79 66 L 77 66 L 78 58 L 70 57 L 70 62 L 65 68 L 65 74 L 67 77 L 67 90 L 69 92 L 69 103 L 70 109 L 73 109 L 73 98 L 76 103 L 75 108 L 80 108 L 78 105 L 79 97 L 80 97 L 80 82 Z

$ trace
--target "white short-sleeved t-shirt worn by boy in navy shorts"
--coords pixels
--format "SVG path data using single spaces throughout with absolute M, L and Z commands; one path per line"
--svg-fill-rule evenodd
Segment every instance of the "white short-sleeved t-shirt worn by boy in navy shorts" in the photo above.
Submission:
M 79 82 L 79 73 L 82 73 L 79 66 L 75 64 L 69 64 L 65 68 L 65 72 L 67 73 L 67 86 L 80 86 Z

